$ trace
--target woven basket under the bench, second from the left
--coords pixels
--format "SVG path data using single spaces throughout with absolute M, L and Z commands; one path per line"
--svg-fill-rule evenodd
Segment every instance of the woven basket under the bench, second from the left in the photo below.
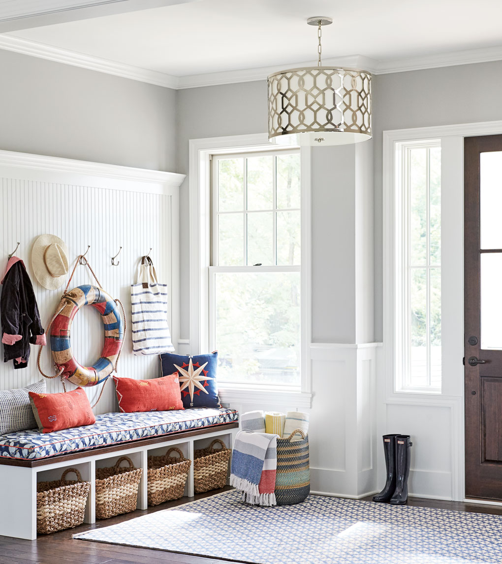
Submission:
M 129 463 L 120 466 L 123 461 Z M 122 456 L 111 468 L 96 468 L 96 517 L 107 519 L 136 509 L 141 468 L 136 469 L 132 460 Z

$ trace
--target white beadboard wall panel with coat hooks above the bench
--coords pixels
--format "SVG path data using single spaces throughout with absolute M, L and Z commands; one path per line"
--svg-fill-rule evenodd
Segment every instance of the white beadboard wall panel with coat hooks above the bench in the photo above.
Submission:
M 119 298 L 127 315 L 127 336 L 119 360 L 118 375 L 151 378 L 159 374 L 156 355 L 132 354 L 130 285 L 136 281 L 141 255 L 150 248 L 159 282 L 168 284 L 170 327 L 176 346 L 179 326 L 178 187 L 183 175 L 142 171 L 111 165 L 89 164 L 50 157 L 24 156 L 0 151 L 0 196 L 2 201 L 2 275 L 7 255 L 20 241 L 16 255 L 23 259 L 32 279 L 42 324 L 47 327 L 65 286 L 47 290 L 38 284 L 31 266 L 31 250 L 42 233 L 61 237 L 68 245 L 70 272 L 78 254 L 91 245 L 87 257 L 102 288 Z M 111 265 L 122 245 L 119 265 Z M 70 289 L 94 283 L 87 267 L 77 266 Z M 83 307 L 71 326 L 71 347 L 84 365 L 93 364 L 103 345 L 101 316 Z M 3 345 L 2 345 L 3 347 Z M 12 361 L 0 363 L 0 389 L 23 387 L 42 378 L 37 369 L 38 347 L 32 345 L 28 367 L 14 370 Z M 53 375 L 52 355 L 42 352 L 42 368 Z M 109 380 L 109 381 L 108 381 Z M 116 411 L 111 378 L 95 413 Z M 62 391 L 59 378 L 47 380 L 48 391 Z M 95 403 L 102 384 L 87 387 Z M 75 386 L 67 383 L 68 390 Z

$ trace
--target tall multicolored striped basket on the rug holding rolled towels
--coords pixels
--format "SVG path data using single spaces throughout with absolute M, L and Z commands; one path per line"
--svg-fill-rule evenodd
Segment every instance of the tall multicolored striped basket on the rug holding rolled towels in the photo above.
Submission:
M 295 435 L 300 439 L 292 440 Z M 288 438 L 277 439 L 277 474 L 275 478 L 277 505 L 293 505 L 304 501 L 310 493 L 308 435 L 301 429 Z

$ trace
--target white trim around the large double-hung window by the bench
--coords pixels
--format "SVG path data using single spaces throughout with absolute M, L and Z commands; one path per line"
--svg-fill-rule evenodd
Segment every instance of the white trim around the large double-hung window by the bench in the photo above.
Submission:
M 271 148 L 267 134 L 191 139 L 189 142 L 190 205 L 190 350 L 209 347 L 210 266 L 210 155 L 264 151 Z M 301 261 L 301 388 L 225 384 L 222 402 L 271 404 L 274 398 L 294 407 L 311 406 L 311 149 L 301 148 L 302 261 Z M 276 401 L 276 400 L 275 400 Z

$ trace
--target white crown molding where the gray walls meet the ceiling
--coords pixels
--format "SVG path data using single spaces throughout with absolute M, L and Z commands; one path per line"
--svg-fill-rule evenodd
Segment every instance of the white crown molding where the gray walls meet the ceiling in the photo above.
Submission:
M 97 70 L 107 74 L 114 74 L 123 78 L 147 82 L 156 86 L 163 86 L 174 90 L 199 88 L 203 86 L 217 86 L 238 82 L 253 82 L 266 80 L 268 74 L 285 68 L 315 66 L 315 61 L 288 63 L 270 67 L 260 67 L 242 70 L 227 70 L 208 74 L 192 74 L 188 76 L 172 76 L 156 70 L 149 70 L 133 65 L 118 63 L 109 59 L 102 59 L 83 53 L 53 47 L 44 43 L 30 41 L 10 34 L 0 34 L 0 49 L 15 51 L 24 55 L 39 57 L 89 70 Z M 324 59 L 324 65 L 333 67 L 348 67 L 367 70 L 372 74 L 390 74 L 441 67 L 454 67 L 475 63 L 487 63 L 502 60 L 502 46 L 487 47 L 486 49 L 472 49 L 456 51 L 440 55 L 425 55 L 394 59 L 392 61 L 377 61 L 362 55 L 349 55 L 339 58 Z

